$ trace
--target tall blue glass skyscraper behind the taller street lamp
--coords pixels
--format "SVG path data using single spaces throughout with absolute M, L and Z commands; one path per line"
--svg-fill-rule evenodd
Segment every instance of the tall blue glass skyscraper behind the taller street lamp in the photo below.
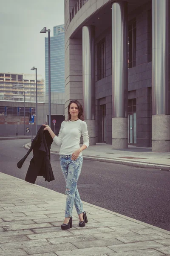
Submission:
M 64 25 L 54 26 L 54 36 L 50 37 L 51 103 L 64 103 L 64 37 Z M 45 38 L 45 102 L 48 102 L 48 38 Z

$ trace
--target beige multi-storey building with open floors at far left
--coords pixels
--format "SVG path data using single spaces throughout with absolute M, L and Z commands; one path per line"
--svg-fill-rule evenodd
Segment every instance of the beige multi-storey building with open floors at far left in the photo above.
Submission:
M 36 102 L 35 75 L 0 73 L 0 101 Z M 44 102 L 44 80 L 37 75 L 37 100 Z

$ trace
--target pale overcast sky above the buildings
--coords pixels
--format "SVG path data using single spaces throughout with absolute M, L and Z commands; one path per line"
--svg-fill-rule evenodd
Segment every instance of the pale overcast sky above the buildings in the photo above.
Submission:
M 64 0 L 0 0 L 0 73 L 34 73 L 45 78 L 46 26 L 64 24 Z

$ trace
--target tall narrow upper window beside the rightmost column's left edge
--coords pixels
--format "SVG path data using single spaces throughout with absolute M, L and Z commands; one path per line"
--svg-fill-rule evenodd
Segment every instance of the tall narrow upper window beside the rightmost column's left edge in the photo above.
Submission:
M 147 11 L 147 62 L 152 61 L 152 10 Z

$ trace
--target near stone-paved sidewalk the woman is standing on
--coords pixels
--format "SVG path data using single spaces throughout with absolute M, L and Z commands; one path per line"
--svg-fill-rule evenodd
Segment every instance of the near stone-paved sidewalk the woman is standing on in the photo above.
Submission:
M 61 230 L 65 195 L 0 173 L 0 256 L 170 256 L 170 232 L 84 202 Z

